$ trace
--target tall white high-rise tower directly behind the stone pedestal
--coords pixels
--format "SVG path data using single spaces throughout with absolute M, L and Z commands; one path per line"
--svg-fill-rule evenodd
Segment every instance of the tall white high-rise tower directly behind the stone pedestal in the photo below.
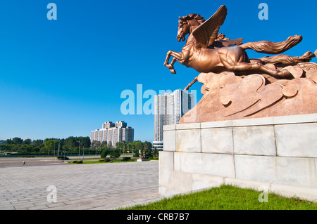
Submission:
M 194 107 L 194 93 L 181 89 L 173 93 L 154 96 L 154 141 L 153 147 L 163 149 L 163 126 L 178 124 L 180 118 Z

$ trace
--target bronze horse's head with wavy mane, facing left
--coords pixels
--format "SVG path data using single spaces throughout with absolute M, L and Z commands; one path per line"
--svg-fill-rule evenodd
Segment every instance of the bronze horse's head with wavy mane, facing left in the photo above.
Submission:
M 178 42 L 185 41 L 186 35 L 191 34 L 202 22 L 205 22 L 204 17 L 196 13 L 180 17 L 178 20 Z

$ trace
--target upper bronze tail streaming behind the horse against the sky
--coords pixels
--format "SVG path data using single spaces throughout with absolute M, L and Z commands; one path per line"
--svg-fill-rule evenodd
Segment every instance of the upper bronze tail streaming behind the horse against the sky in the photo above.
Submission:
M 282 42 L 271 42 L 271 41 L 258 41 L 258 42 L 249 42 L 247 44 L 239 45 L 244 50 L 251 49 L 259 53 L 268 53 L 268 54 L 279 54 L 283 53 L 293 46 L 299 44 L 302 41 L 302 35 L 289 37 L 286 41 Z

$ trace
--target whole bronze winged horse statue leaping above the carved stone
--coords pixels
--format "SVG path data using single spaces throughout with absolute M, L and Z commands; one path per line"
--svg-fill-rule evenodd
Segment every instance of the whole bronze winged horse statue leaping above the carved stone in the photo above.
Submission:
M 279 54 L 299 44 L 302 41 L 302 36 L 295 35 L 279 43 L 258 41 L 242 44 L 242 39 L 230 41 L 223 38 L 223 34 L 218 34 L 226 16 L 227 8 L 220 6 L 209 20 L 204 20 L 203 17 L 197 14 L 190 14 L 180 18 L 177 39 L 178 41 L 185 41 L 187 34 L 189 34 L 189 37 L 182 48 L 182 52 L 168 51 L 164 65 L 168 67 L 170 72 L 176 74 L 173 65 L 178 61 L 182 65 L 192 67 L 197 72 L 219 73 L 230 71 L 237 74 L 241 72 L 243 74 L 263 72 L 281 79 L 290 77 L 290 72 L 287 69 L 278 70 L 274 66 L 266 66 L 266 62 L 271 64 L 274 64 L 274 61 L 281 64 L 308 62 L 315 56 L 313 53 L 307 52 L 302 57 L 276 55 L 250 60 L 245 51 L 247 49 L 252 49 L 259 53 Z M 169 63 L 171 56 L 173 56 L 173 60 Z

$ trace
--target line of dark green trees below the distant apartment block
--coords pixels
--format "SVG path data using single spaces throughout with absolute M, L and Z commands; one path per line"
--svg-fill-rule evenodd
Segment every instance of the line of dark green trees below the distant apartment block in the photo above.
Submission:
M 79 152 L 80 147 L 80 152 Z M 134 142 L 121 142 L 116 143 L 113 147 L 111 142 L 104 141 L 98 142 L 93 140 L 90 142 L 89 137 L 73 137 L 68 138 L 46 138 L 44 140 L 31 140 L 27 138 L 10 138 L 0 141 L 1 152 L 17 152 L 19 154 L 124 154 L 132 152 L 134 157 L 139 157 L 139 152 L 143 154 L 144 150 L 147 157 L 156 157 L 158 152 L 152 149 L 152 144 L 148 141 L 142 142 L 136 140 Z

